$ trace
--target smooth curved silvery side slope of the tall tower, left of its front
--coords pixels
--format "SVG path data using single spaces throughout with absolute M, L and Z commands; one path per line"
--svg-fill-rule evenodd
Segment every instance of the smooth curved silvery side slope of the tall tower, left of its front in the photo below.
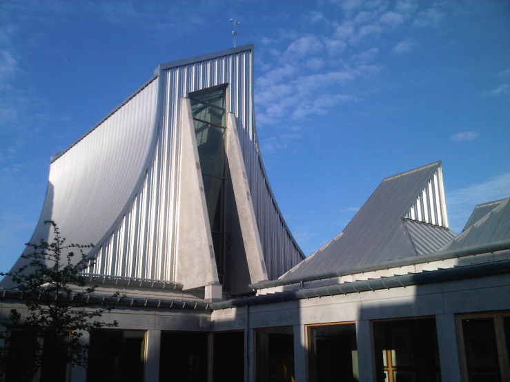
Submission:
M 51 163 L 43 211 L 30 242 L 50 237 L 46 220 L 57 223 L 66 243 L 101 241 L 144 171 L 156 101 L 153 80 Z

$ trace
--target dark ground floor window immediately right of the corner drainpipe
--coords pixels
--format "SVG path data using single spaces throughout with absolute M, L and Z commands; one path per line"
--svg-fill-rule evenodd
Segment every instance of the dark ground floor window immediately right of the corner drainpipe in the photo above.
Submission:
M 257 382 L 293 382 L 294 332 L 291 326 L 255 331 Z

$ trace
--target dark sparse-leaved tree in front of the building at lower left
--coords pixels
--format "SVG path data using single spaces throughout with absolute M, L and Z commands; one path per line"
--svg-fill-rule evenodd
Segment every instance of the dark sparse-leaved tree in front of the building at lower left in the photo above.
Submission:
M 88 346 L 80 341 L 81 336 L 92 329 L 117 326 L 117 321 L 106 323 L 97 319 L 114 309 L 122 299 L 119 292 L 107 297 L 97 296 L 97 285 L 86 285 L 81 272 L 93 261 L 85 254 L 85 250 L 93 247 L 92 244 L 66 245 L 57 224 L 54 221 L 45 223 L 52 228 L 52 241 L 48 243 L 41 239 L 37 244 L 27 243 L 32 252 L 22 255 L 27 260 L 26 265 L 13 272 L 0 273 L 19 285 L 17 288 L 23 291 L 27 307 L 26 314 L 17 309 L 10 310 L 8 322 L 2 323 L 8 330 L 0 333 L 0 339 L 4 341 L 0 350 L 0 371 L 6 372 L 8 361 L 12 361 L 8 355 L 9 348 L 20 348 L 12 334 L 23 330 L 26 334 L 22 345 L 25 360 L 21 370 L 23 375 L 18 378 L 24 381 L 33 379 L 48 355 L 54 365 L 58 358 L 64 365 L 86 367 Z M 48 349 L 48 344 L 52 354 L 43 352 L 43 348 Z

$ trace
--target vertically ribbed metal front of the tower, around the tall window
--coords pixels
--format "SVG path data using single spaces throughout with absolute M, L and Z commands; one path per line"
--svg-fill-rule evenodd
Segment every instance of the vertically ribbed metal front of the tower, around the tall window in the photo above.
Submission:
M 102 243 L 93 272 L 179 281 L 175 266 L 175 217 L 180 102 L 189 92 L 224 83 L 228 83 L 228 112 L 237 119 L 268 276 L 276 279 L 304 259 L 279 212 L 258 151 L 253 111 L 253 50 L 238 50 L 162 67 L 161 119 L 153 162 L 132 205 Z

